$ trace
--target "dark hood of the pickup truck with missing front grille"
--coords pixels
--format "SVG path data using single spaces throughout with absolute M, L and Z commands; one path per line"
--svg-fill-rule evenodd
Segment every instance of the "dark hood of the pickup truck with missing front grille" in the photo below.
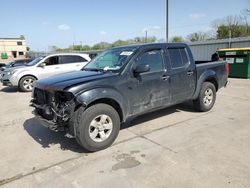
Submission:
M 64 89 L 72 86 L 84 84 L 90 81 L 96 81 L 112 75 L 115 74 L 110 72 L 76 71 L 38 80 L 35 83 L 35 87 L 50 92 L 63 91 Z

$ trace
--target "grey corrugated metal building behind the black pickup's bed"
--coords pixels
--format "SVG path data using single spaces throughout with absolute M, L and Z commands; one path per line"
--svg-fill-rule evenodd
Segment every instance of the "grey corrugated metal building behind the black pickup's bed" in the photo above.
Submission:
M 209 61 L 211 55 L 220 48 L 250 47 L 250 37 L 207 40 L 188 43 L 196 61 Z

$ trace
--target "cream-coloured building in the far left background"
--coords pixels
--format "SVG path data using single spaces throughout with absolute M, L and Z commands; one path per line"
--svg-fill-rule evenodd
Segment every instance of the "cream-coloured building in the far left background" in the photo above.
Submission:
M 27 55 L 26 40 L 19 38 L 0 38 L 0 59 L 20 59 Z

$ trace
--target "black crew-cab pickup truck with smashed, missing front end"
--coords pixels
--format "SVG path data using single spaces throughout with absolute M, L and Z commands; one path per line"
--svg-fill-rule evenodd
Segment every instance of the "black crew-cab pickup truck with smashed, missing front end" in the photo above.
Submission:
M 209 111 L 226 86 L 226 62 L 195 63 L 182 43 L 142 44 L 104 51 L 82 71 L 38 80 L 31 106 L 44 126 L 66 130 L 86 150 L 116 139 L 129 117 L 193 100 Z

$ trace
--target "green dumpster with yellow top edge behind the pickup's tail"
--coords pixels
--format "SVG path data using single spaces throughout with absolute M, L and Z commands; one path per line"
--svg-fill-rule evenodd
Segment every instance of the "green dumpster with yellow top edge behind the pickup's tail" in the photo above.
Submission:
M 250 78 L 250 47 L 219 49 L 218 54 L 229 63 L 229 77 Z

